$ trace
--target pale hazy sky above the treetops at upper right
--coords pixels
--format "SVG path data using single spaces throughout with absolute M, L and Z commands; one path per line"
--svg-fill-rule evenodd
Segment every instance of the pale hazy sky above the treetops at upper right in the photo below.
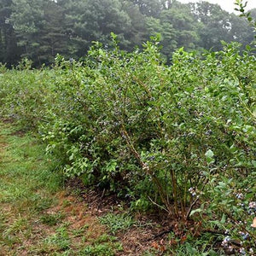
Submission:
M 234 9 L 236 8 L 235 0 L 205 0 L 210 3 L 218 3 L 222 9 L 228 11 L 228 12 L 236 12 Z M 181 3 L 195 3 L 195 2 L 201 2 L 200 0 L 178 0 L 178 2 Z M 246 1 L 243 1 L 245 3 Z M 246 10 L 256 8 L 256 0 L 247 0 L 247 8 Z

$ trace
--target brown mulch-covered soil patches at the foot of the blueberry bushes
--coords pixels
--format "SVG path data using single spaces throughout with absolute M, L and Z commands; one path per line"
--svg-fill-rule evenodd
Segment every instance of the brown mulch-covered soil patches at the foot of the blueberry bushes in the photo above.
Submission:
M 120 213 L 119 205 L 124 206 L 124 201 L 120 201 L 116 195 L 107 195 L 105 191 L 89 190 L 79 181 L 79 179 L 70 180 L 67 183 L 67 191 L 78 189 L 79 205 L 87 205 L 84 212 L 79 212 L 90 218 L 102 217 L 108 212 Z M 75 207 L 75 204 L 73 205 Z M 123 207 L 124 208 L 124 207 Z M 126 207 L 128 208 L 128 207 Z M 123 210 L 124 211 L 124 210 Z M 186 230 L 200 230 L 200 224 L 187 222 L 185 225 L 179 225 L 177 219 L 170 218 L 166 212 L 154 212 L 147 215 L 137 213 L 136 223 L 129 230 L 122 230 L 115 234 L 123 245 L 123 252 L 117 253 L 118 256 L 142 255 L 143 252 L 154 249 L 155 255 L 161 255 L 166 251 L 166 247 L 175 246 L 175 241 L 168 238 L 172 231 L 175 235 L 186 240 Z M 197 228 L 196 228 L 197 225 Z M 195 234 L 196 235 L 196 234 Z

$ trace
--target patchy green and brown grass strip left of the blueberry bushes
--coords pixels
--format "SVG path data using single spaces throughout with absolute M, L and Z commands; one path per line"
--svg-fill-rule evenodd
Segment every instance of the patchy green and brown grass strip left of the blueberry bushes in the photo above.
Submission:
M 62 189 L 35 138 L 0 124 L 0 255 L 114 255 L 122 249 Z

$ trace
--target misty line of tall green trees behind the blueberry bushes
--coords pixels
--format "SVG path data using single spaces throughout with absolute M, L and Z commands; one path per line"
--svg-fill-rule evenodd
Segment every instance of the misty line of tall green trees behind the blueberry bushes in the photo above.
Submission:
M 256 17 L 256 9 L 251 15 Z M 159 33 L 167 60 L 182 46 L 218 50 L 221 40 L 253 42 L 253 29 L 245 18 L 207 2 L 2 0 L 0 62 L 11 66 L 27 57 L 40 66 L 51 63 L 57 53 L 77 59 L 91 41 L 108 47 L 110 32 L 118 35 L 121 49 L 127 51 Z

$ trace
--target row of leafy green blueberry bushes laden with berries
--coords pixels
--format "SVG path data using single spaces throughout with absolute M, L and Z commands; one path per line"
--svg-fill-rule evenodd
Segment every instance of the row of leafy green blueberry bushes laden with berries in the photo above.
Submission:
M 82 61 L 1 67 L 0 114 L 38 132 L 63 174 L 215 230 L 226 251 L 255 252 L 255 55 L 225 44 L 178 49 L 156 38 L 131 53 L 117 38 Z M 218 231 L 218 232 L 217 232 Z M 188 230 L 188 232 L 190 232 Z

